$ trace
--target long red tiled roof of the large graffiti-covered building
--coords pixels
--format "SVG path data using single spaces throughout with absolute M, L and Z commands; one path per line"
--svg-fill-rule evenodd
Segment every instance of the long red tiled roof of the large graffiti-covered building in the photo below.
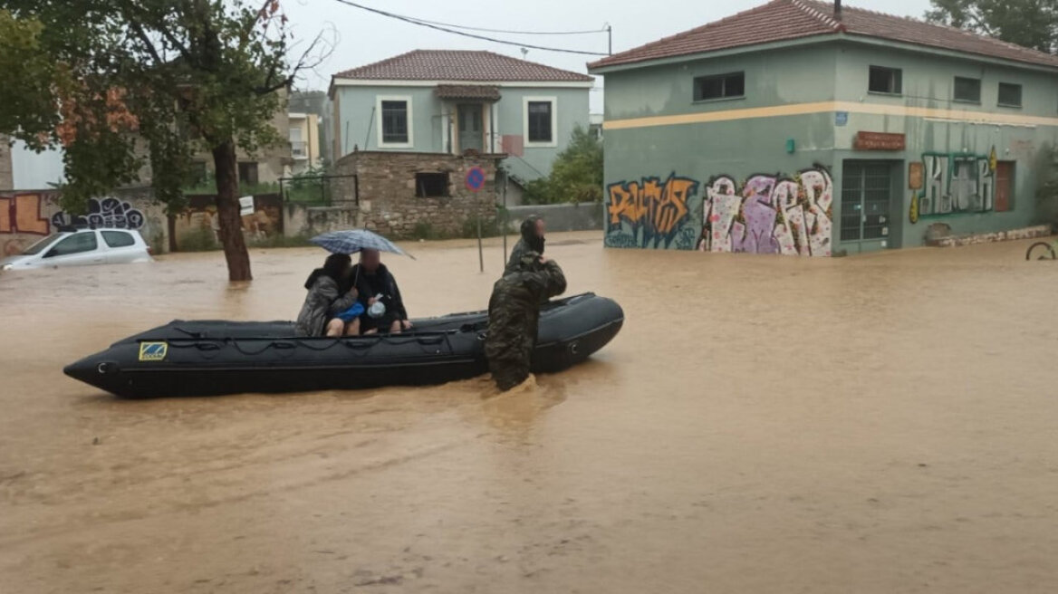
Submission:
M 588 67 L 635 63 L 839 33 L 1058 68 L 1058 57 L 1051 54 L 908 17 L 844 6 L 838 21 L 834 18 L 832 3 L 811 0 L 772 0 L 726 19 L 607 56 Z

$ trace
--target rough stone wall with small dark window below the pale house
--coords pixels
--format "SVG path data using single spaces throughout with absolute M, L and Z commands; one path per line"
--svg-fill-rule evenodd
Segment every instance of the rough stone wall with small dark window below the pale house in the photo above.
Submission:
M 357 175 L 357 220 L 369 229 L 389 237 L 408 237 L 426 229 L 438 236 L 459 235 L 475 217 L 495 217 L 496 164 L 500 159 L 503 155 L 360 151 L 339 160 L 335 173 Z M 474 166 L 485 171 L 485 185 L 478 192 L 470 191 L 464 182 Z M 417 198 L 416 173 L 446 173 L 449 196 Z M 342 200 L 351 191 L 342 186 Z M 339 200 L 338 194 L 332 199 Z

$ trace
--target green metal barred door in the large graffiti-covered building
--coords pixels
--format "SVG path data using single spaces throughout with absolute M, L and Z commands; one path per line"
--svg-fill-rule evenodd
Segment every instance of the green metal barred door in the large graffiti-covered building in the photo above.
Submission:
M 841 175 L 841 243 L 852 253 L 890 247 L 893 169 L 884 162 L 846 161 Z

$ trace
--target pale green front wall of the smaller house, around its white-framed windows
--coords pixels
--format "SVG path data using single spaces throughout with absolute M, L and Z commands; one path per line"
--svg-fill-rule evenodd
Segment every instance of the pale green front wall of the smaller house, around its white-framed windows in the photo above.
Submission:
M 548 97 L 555 101 L 555 138 L 553 146 L 531 146 L 523 142 L 521 154 L 511 154 L 508 169 L 518 179 L 530 181 L 546 177 L 554 157 L 569 144 L 573 127 L 588 127 L 588 89 L 553 87 L 500 87 L 501 98 L 485 104 L 484 128 L 491 132 L 486 151 L 501 150 L 505 135 L 524 140 L 526 97 Z M 411 146 L 379 145 L 379 97 L 403 98 L 412 106 Z M 454 136 L 456 100 L 441 100 L 434 87 L 338 87 L 333 98 L 335 151 L 346 155 L 354 148 L 367 151 L 460 152 Z M 495 110 L 493 116 L 491 111 Z M 487 134 L 489 135 L 489 134 Z M 490 146 L 492 145 L 492 146 Z

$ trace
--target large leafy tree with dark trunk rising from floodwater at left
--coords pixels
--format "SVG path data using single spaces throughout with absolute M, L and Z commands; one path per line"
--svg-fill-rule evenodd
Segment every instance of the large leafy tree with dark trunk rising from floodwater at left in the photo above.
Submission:
M 279 1 L 248 1 L 0 0 L 0 134 L 63 148 L 71 211 L 149 164 L 179 212 L 191 156 L 211 153 L 229 278 L 250 280 L 236 151 L 284 141 L 272 118 L 322 38 L 291 60 Z

